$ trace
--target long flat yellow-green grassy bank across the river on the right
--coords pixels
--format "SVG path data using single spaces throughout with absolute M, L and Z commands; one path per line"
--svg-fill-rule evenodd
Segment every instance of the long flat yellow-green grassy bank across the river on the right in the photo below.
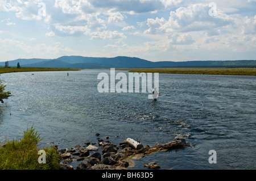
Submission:
M 130 72 L 170 74 L 256 75 L 256 68 L 148 68 L 122 69 Z

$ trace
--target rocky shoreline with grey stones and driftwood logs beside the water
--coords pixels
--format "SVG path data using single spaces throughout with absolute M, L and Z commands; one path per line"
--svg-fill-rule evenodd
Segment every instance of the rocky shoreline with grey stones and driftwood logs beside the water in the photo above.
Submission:
M 100 134 L 96 134 L 100 136 Z M 127 138 L 119 142 L 119 146 L 111 143 L 109 137 L 104 137 L 105 140 L 97 138 L 96 142 L 85 143 L 85 146 L 76 145 L 70 149 L 57 149 L 57 153 L 61 157 L 60 170 L 74 170 L 72 161 L 81 161 L 76 167 L 76 170 L 126 170 L 127 167 L 133 167 L 131 159 L 140 159 L 147 154 L 155 153 L 158 151 L 167 151 L 172 149 L 181 149 L 188 146 L 183 137 L 175 137 L 172 142 L 167 144 L 156 143 L 155 146 L 142 146 L 137 141 Z M 131 143 L 132 140 L 133 142 Z M 139 145 L 138 148 L 134 145 Z M 99 151 L 100 150 L 100 151 Z M 148 169 L 159 169 L 160 166 L 156 162 L 144 164 Z

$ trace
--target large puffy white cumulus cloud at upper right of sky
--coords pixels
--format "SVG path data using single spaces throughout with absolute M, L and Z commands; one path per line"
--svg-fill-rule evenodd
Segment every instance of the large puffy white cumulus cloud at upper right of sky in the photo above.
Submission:
M 234 19 L 221 11 L 217 16 L 209 15 L 209 6 L 203 4 L 180 7 L 176 11 L 170 12 L 170 18 L 148 19 L 148 30 L 145 33 L 171 33 L 171 32 L 191 32 L 191 31 L 212 31 L 215 28 L 234 24 Z

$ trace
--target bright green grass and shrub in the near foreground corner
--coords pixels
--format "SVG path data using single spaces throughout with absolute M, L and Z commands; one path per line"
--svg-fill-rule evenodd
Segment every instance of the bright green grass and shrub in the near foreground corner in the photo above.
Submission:
M 42 139 L 33 127 L 23 133 L 20 140 L 8 141 L 0 147 L 0 170 L 57 170 L 60 156 L 55 148 L 46 151 L 46 163 L 38 163 L 38 143 Z

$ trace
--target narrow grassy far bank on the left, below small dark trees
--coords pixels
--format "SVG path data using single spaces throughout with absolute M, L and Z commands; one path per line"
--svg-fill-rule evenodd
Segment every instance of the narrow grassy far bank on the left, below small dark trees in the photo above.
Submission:
M 17 69 L 16 67 L 10 67 L 10 68 L 3 68 L 0 67 L 0 74 L 3 73 L 13 73 L 13 72 L 23 72 L 23 71 L 77 71 L 80 69 L 66 69 L 66 68 L 20 68 Z

